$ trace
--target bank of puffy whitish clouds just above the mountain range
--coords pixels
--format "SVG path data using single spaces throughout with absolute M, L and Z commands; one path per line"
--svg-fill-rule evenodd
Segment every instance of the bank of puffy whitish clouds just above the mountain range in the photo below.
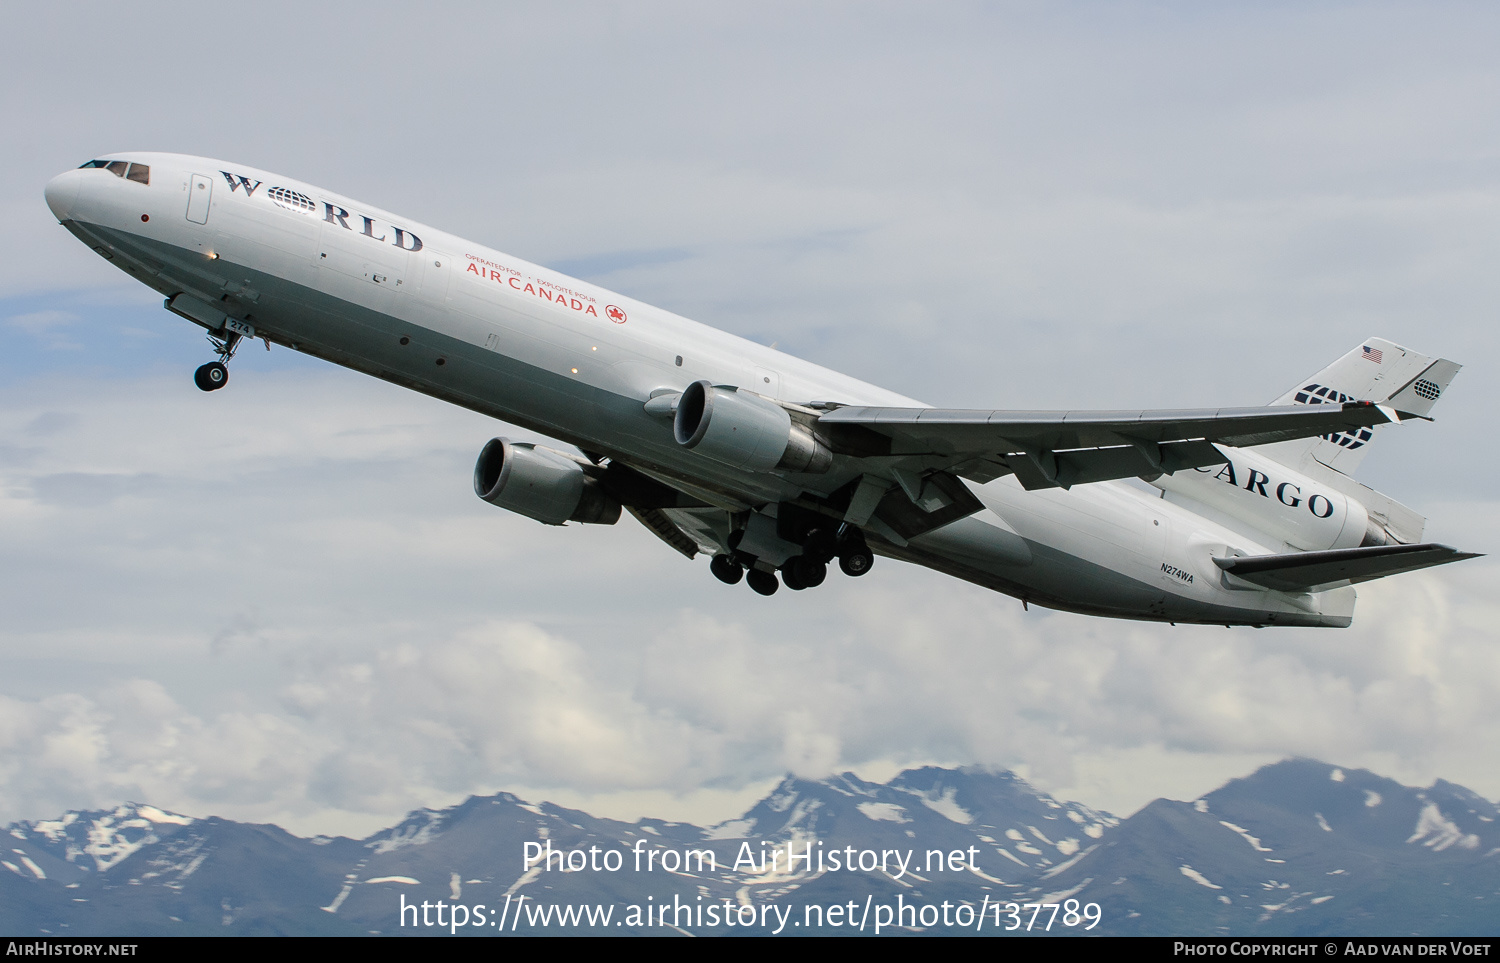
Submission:
M 336 831 L 350 813 L 378 824 L 506 786 L 690 794 L 891 759 L 1017 766 L 1114 808 L 1172 786 L 1206 790 L 1204 766 L 1234 774 L 1284 754 L 1496 792 L 1496 632 L 1438 651 L 1389 618 L 1406 610 L 1426 624 L 1452 606 L 1437 582 L 1392 585 L 1370 630 L 1326 642 L 1203 628 L 1161 642 L 1116 622 L 1014 615 L 984 597 L 936 624 L 902 624 L 903 608 L 966 592 L 886 585 L 885 604 L 842 592 L 840 604 L 866 612 L 842 638 L 686 610 L 624 654 L 638 674 L 616 672 L 586 638 L 489 621 L 315 664 L 273 650 L 276 696 L 242 705 L 192 710 L 146 678 L 6 698 L 0 812 L 144 798 Z M 1320 658 L 1296 656 L 1310 646 Z M 1330 648 L 1341 652 L 1328 658 Z M 1142 774 L 1142 759 L 1168 786 Z M 1185 760 L 1191 772 L 1172 772 Z

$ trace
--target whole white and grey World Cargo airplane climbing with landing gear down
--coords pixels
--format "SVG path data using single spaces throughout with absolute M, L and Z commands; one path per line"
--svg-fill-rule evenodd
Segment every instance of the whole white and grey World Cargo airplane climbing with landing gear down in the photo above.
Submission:
M 1090 615 L 1342 627 L 1353 584 L 1473 556 L 1350 477 L 1460 368 L 1386 340 L 1264 408 L 945 410 L 238 164 L 108 154 L 46 202 L 208 330 L 202 390 L 264 339 L 522 424 L 582 454 L 495 438 L 480 498 L 624 508 L 764 596 L 879 554 Z

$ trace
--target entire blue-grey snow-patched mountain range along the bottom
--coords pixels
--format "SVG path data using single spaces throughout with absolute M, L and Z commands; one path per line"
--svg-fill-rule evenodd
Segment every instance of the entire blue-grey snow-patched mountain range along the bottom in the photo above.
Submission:
M 770 906 L 802 921 L 807 904 L 898 898 L 988 906 L 1004 926 L 996 903 L 1071 898 L 1098 904 L 1095 933 L 1488 934 L 1500 928 L 1497 820 L 1496 804 L 1452 783 L 1412 789 L 1312 760 L 1266 766 L 1191 802 L 1156 800 L 1125 820 L 1011 772 L 939 768 L 884 784 L 789 777 L 740 819 L 706 828 L 498 794 L 411 813 L 366 840 L 309 840 L 122 806 L 8 826 L 0 927 L 494 934 L 502 906 L 608 904 L 609 932 L 621 933 L 656 932 L 639 916 L 632 924 L 627 906 Z M 525 866 L 528 854 L 543 860 Z M 418 926 L 422 903 L 483 908 L 484 918 L 466 910 L 462 927 L 436 927 L 429 912 Z M 506 920 L 506 932 L 568 932 L 555 920 Z M 696 920 L 682 928 L 776 928 L 764 912 L 746 927 Z

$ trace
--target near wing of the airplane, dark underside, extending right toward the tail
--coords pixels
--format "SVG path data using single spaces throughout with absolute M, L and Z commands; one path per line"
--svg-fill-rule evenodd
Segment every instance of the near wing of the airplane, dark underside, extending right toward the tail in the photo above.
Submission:
M 1014 472 L 1026 489 L 1203 468 L 1224 462 L 1215 442 L 1248 447 L 1401 420 L 1370 402 L 1176 411 L 975 411 L 834 408 L 818 429 L 834 450 L 894 456 L 914 471 L 974 482 Z M 1416 416 L 1407 416 L 1416 417 Z M 900 476 L 897 474 L 897 478 Z

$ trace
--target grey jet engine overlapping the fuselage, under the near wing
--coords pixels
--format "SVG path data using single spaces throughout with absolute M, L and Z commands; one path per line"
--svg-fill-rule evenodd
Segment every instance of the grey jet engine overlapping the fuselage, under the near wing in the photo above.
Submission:
M 748 471 L 822 474 L 832 452 L 813 432 L 792 422 L 776 402 L 750 392 L 694 381 L 682 392 L 672 434 L 684 448 Z

